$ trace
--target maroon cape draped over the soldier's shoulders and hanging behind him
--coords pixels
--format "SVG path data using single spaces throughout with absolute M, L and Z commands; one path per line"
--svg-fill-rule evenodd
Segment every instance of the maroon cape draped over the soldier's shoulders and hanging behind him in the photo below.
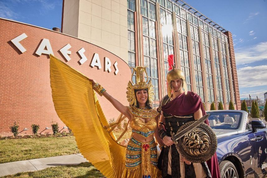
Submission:
M 192 91 L 188 91 L 187 94 L 182 93 L 174 100 L 170 101 L 166 105 L 162 106 L 162 111 L 171 115 L 184 116 L 190 115 L 198 111 L 199 108 L 202 110 L 202 114 L 206 115 L 201 98 L 199 95 Z M 205 120 L 205 124 L 209 125 L 208 120 Z M 213 178 L 220 178 L 219 164 L 217 154 L 215 153 L 210 160 L 207 161 L 207 165 L 211 176 Z

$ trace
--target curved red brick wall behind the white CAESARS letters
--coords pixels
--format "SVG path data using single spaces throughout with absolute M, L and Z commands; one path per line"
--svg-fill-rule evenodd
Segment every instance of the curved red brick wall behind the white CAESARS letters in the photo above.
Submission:
M 27 50 L 23 54 L 10 40 L 26 33 L 28 36 L 20 43 Z M 127 63 L 116 55 L 88 42 L 77 38 L 42 29 L 19 22 L 0 19 L 0 135 L 12 135 L 9 126 L 14 121 L 19 122 L 19 135 L 32 134 L 31 124 L 40 124 L 39 133 L 52 132 L 51 122 L 59 123 L 59 130 L 63 124 L 58 118 L 51 96 L 49 80 L 49 56 L 35 54 L 43 38 L 49 39 L 54 55 L 67 63 L 72 68 L 96 79 L 112 96 L 121 101 L 124 105 L 129 103 L 126 100 L 126 87 L 131 79 L 131 71 Z M 100 37 L 101 38 L 101 37 Z M 72 54 L 71 60 L 66 62 L 59 53 L 66 44 L 72 47 L 69 49 Z M 84 48 L 87 61 L 80 65 L 77 51 Z M 98 53 L 102 69 L 91 68 L 90 62 L 94 53 Z M 112 72 L 104 72 L 104 57 L 108 57 L 111 63 L 118 62 L 119 73 L 114 75 L 115 69 L 111 66 Z M 104 98 L 98 97 L 107 119 L 117 118 L 119 112 Z M 23 131 L 29 128 L 28 131 Z M 63 129 L 66 130 L 66 129 Z

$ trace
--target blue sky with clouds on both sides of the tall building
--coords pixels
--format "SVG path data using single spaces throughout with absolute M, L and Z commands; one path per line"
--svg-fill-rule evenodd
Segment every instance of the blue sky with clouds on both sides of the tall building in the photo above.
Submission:
M 126 0 L 125 0 L 126 1 Z M 240 97 L 267 92 L 267 0 L 185 0 L 233 34 Z M 62 0 L 0 0 L 0 17 L 61 27 Z

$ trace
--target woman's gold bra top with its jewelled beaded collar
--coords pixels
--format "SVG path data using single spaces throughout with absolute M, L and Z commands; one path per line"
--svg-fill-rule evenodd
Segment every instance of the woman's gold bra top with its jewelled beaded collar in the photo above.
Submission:
M 136 108 L 134 106 L 128 106 L 128 109 L 134 115 L 134 119 L 132 119 L 130 123 L 133 133 L 139 134 L 145 138 L 154 134 L 157 128 L 157 121 L 155 118 L 159 115 L 156 110 Z M 147 122 L 142 119 L 146 119 Z

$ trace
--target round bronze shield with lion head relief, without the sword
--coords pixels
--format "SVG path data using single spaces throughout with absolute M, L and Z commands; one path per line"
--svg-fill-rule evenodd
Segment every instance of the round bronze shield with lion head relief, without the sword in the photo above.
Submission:
M 183 124 L 177 133 L 190 127 L 194 122 Z M 194 163 L 208 161 L 215 154 L 218 144 L 214 131 L 204 123 L 176 141 L 175 146 L 181 156 Z

